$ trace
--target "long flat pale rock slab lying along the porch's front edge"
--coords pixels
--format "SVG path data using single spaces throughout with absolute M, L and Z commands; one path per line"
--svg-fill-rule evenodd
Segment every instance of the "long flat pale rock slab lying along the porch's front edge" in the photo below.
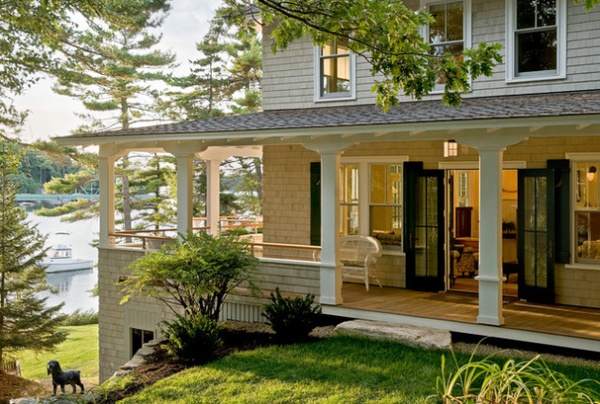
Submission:
M 379 340 L 401 341 L 426 348 L 449 349 L 452 345 L 452 337 L 449 331 L 408 324 L 352 320 L 338 324 L 335 327 L 335 333 Z

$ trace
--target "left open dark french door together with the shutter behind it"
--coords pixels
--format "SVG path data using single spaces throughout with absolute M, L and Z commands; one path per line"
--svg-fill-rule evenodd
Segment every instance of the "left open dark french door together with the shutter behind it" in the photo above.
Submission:
M 444 171 L 404 163 L 406 287 L 444 290 Z

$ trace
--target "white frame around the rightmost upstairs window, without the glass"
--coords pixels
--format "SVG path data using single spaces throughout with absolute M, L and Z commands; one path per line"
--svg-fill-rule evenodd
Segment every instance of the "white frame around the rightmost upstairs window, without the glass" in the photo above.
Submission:
M 556 0 L 556 72 L 531 72 L 518 74 L 515 30 L 517 27 L 517 0 L 506 2 L 506 82 L 521 83 L 528 81 L 557 80 L 567 77 L 567 2 Z

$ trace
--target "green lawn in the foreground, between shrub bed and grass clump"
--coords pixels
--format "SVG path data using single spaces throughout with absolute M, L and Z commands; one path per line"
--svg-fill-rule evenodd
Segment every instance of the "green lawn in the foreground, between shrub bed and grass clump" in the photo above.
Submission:
M 447 351 L 333 337 L 310 344 L 238 352 L 187 369 L 123 403 L 425 403 L 435 394 Z M 467 363 L 468 353 L 455 353 Z M 483 355 L 481 355 L 483 358 Z M 499 362 L 505 358 L 498 357 Z M 552 364 L 600 380 L 600 367 Z M 574 378 L 574 377 L 573 377 Z M 598 388 L 598 386 L 596 386 Z M 436 402 L 436 401 L 429 401 Z

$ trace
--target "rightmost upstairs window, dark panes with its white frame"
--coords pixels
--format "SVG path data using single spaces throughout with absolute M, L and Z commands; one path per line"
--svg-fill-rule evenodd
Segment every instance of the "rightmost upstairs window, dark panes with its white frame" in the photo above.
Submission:
M 510 0 L 507 79 L 564 77 L 564 0 Z

